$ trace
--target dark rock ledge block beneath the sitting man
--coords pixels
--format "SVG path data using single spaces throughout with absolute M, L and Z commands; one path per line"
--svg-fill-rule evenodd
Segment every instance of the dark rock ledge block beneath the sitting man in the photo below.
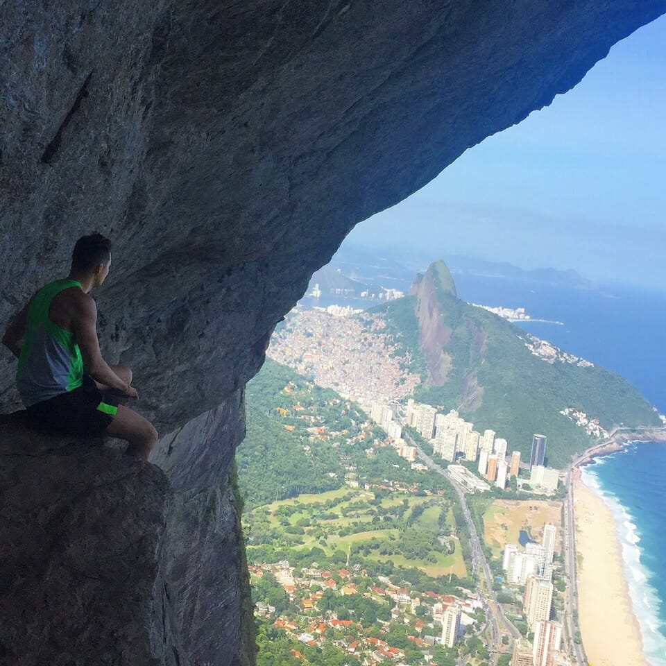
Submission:
M 164 474 L 100 440 L 0 426 L 0 663 L 185 666 Z

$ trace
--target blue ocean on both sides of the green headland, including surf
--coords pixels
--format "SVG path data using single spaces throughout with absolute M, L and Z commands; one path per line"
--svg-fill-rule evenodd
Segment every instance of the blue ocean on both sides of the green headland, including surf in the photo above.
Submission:
M 666 413 L 666 293 L 634 287 L 574 289 L 493 276 L 454 274 L 459 298 L 524 307 L 533 335 L 610 370 Z M 407 284 L 391 284 L 407 291 Z M 321 305 L 329 305 L 329 302 Z M 304 304 L 305 305 L 305 304 Z M 314 305 L 309 302 L 307 305 Z M 358 300 L 340 305 L 368 307 Z M 307 306 L 306 306 L 307 307 Z M 626 579 L 646 658 L 666 666 L 666 443 L 631 443 L 583 470 L 610 507 L 622 542 Z

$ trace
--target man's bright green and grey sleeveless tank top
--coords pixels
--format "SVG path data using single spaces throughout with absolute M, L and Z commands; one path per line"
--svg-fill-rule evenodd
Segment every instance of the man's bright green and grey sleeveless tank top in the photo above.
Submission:
M 16 384 L 26 407 L 73 391 L 83 383 L 83 359 L 74 336 L 49 319 L 49 306 L 75 280 L 56 280 L 37 291 L 28 308 Z

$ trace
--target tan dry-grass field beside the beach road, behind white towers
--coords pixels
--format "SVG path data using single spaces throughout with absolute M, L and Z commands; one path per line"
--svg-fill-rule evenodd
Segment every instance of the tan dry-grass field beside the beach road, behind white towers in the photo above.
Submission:
M 484 513 L 484 540 L 499 557 L 507 543 L 518 544 L 524 529 L 536 541 L 543 537 L 543 526 L 549 522 L 557 527 L 555 551 L 561 551 L 562 502 L 533 499 L 495 499 Z

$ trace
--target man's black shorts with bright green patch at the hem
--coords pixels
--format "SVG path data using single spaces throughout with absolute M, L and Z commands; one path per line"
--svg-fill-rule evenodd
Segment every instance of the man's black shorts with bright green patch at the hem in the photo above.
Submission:
M 35 427 L 67 435 L 102 434 L 117 411 L 117 398 L 102 393 L 89 375 L 83 375 L 83 384 L 74 391 L 37 402 L 26 410 Z

